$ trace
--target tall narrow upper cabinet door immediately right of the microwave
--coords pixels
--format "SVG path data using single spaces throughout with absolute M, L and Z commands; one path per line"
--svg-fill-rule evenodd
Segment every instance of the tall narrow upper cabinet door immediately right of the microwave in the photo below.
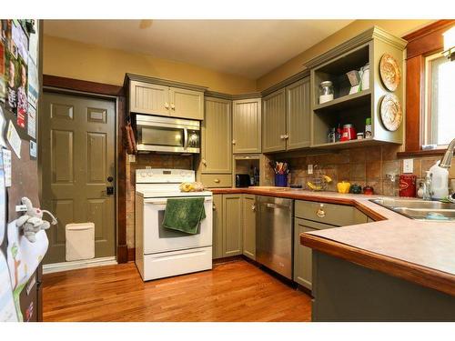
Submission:
M 206 115 L 202 122 L 203 174 L 232 173 L 231 102 L 206 97 Z

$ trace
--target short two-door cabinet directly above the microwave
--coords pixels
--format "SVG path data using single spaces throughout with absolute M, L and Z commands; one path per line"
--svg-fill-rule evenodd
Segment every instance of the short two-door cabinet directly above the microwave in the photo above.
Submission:
M 204 93 L 131 80 L 129 111 L 138 114 L 204 119 Z

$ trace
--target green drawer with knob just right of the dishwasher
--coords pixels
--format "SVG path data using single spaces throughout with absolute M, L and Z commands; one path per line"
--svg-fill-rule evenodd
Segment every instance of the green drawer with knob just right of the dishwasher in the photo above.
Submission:
M 296 217 L 334 226 L 366 223 L 363 214 L 355 207 L 296 200 Z

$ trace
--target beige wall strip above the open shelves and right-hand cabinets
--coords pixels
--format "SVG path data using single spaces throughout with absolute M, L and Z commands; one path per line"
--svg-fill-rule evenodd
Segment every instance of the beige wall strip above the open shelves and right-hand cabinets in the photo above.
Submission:
M 343 43 L 344 41 L 359 35 L 373 25 L 385 29 L 392 35 L 403 36 L 416 29 L 428 25 L 433 20 L 356 20 L 342 28 L 333 35 L 330 35 L 317 45 L 313 45 L 308 50 L 296 55 L 283 65 L 258 78 L 257 89 L 262 91 L 269 86 L 277 84 L 291 75 L 295 75 L 304 69 L 304 64 L 315 56 L 321 55 L 329 49 Z M 302 37 L 304 39 L 305 37 Z

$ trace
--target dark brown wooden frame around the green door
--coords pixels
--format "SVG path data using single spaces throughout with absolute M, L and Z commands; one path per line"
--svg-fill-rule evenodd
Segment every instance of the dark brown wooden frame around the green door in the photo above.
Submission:
M 83 81 L 56 75 L 43 75 L 43 87 L 47 91 L 62 94 L 91 95 L 112 98 L 116 101 L 116 260 L 128 261 L 126 246 L 126 92 L 123 86 Z

